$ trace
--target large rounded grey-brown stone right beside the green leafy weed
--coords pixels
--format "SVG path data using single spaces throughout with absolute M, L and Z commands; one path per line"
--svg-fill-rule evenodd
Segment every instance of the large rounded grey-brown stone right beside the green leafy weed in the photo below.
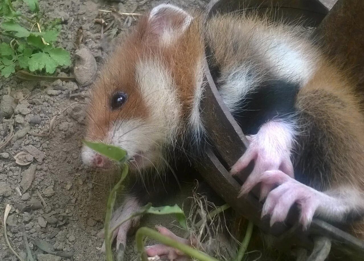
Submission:
M 96 75 L 97 64 L 95 57 L 86 47 L 75 52 L 74 76 L 76 81 L 81 85 L 87 85 L 92 82 Z

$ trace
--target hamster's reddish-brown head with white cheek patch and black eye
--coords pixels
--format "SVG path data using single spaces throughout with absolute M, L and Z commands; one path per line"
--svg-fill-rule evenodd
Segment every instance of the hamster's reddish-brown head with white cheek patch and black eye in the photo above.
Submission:
M 127 150 L 131 167 L 158 167 L 193 113 L 202 79 L 199 26 L 182 9 L 161 4 L 143 16 L 110 55 L 91 89 L 86 139 Z M 188 121 L 188 120 L 187 120 Z M 106 168 L 82 151 L 84 164 Z

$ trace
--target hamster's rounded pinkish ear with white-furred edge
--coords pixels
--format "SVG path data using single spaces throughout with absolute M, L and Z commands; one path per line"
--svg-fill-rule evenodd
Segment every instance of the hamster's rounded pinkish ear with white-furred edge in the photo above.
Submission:
M 148 22 L 162 43 L 172 43 L 190 25 L 192 17 L 179 7 L 160 4 L 148 16 Z

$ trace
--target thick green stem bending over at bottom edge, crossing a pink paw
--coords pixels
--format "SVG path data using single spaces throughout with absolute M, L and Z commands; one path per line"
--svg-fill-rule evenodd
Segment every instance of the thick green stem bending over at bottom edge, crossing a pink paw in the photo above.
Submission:
M 151 229 L 142 227 L 137 230 L 137 233 L 135 234 L 135 240 L 137 241 L 137 249 L 139 253 L 141 253 L 142 260 L 147 261 L 147 254 L 144 250 L 144 237 L 150 237 L 154 240 L 157 240 L 158 242 L 165 244 L 167 246 L 171 246 L 175 249 L 180 250 L 181 252 L 185 253 L 187 256 L 190 256 L 192 258 L 195 258 L 200 261 L 218 261 L 217 259 L 197 250 L 194 248 L 191 248 L 190 246 L 187 246 L 181 242 L 178 242 L 176 240 L 171 239 L 170 237 L 164 236 L 161 233 Z

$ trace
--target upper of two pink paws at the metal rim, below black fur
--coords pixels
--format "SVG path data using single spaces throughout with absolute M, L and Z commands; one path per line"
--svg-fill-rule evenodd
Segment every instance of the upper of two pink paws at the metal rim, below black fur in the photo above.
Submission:
M 232 166 L 230 173 L 235 175 L 254 161 L 254 169 L 241 188 L 240 196 L 248 193 L 254 185 L 261 183 L 260 200 L 263 200 L 273 185 L 260 180 L 261 173 L 269 170 L 280 170 L 289 177 L 294 177 L 290 160 L 292 133 L 280 122 L 263 125 L 256 135 L 247 136 L 249 147 L 243 156 Z M 260 180 L 258 182 L 258 180 Z

